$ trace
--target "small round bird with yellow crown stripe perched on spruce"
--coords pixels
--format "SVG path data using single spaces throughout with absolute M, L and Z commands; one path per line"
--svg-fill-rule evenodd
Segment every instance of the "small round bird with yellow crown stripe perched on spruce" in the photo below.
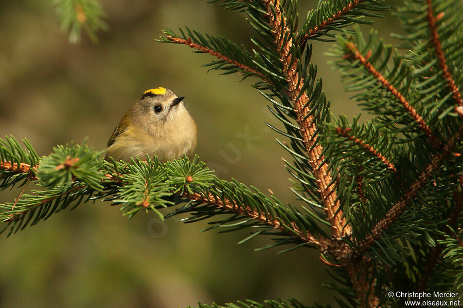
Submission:
M 107 160 L 130 161 L 156 155 L 166 162 L 193 154 L 197 127 L 183 103 L 169 89 L 149 89 L 127 111 L 108 141 Z

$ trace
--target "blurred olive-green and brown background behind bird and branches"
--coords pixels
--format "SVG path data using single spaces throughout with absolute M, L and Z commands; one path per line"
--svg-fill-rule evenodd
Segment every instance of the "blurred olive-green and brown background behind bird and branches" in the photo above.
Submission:
M 317 1 L 301 1 L 300 15 Z M 104 149 L 115 125 L 146 89 L 164 86 L 185 96 L 198 124 L 197 153 L 218 170 L 280 200 L 297 204 L 275 142 L 266 101 L 252 80 L 207 73 L 209 55 L 186 46 L 161 44 L 166 27 L 189 26 L 250 46 L 244 16 L 202 1 L 104 0 L 109 30 L 93 45 L 84 34 L 70 45 L 60 32 L 51 1 L 0 1 L 0 135 L 27 137 L 39 155 L 70 141 Z M 303 19 L 303 18 L 301 18 Z M 368 29 L 370 26 L 366 26 Z M 390 41 L 397 20 L 376 27 Z M 315 43 L 318 64 L 334 114 L 358 114 L 342 91 L 339 74 Z M 278 123 L 277 123 L 278 125 Z M 240 134 L 241 133 L 241 134 Z M 252 135 L 251 143 L 242 138 Z M 280 137 L 279 137 L 280 138 Z M 31 185 L 32 186 L 32 185 Z M 17 189 L 3 191 L 0 202 Z M 316 251 L 300 248 L 277 255 L 254 252 L 271 242 L 248 233 L 200 233 L 206 222 L 161 222 L 151 213 L 122 217 L 109 203 L 88 203 L 52 216 L 6 239 L 0 238 L 2 307 L 184 307 L 196 301 L 295 297 L 307 304 L 335 303 L 327 266 Z

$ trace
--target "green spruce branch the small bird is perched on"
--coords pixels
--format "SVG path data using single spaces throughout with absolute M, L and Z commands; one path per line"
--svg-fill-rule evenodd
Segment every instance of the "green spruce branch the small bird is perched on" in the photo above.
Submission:
M 45 189 L 25 195 L 22 191 L 14 203 L 0 205 L 0 221 L 6 224 L 4 230 L 10 228 L 8 235 L 25 228 L 29 222 L 34 225 L 46 220 L 70 204 L 75 208 L 83 201 L 100 199 L 120 205 L 123 215 L 129 218 L 141 209 L 152 210 L 161 218 L 192 213 L 186 222 L 231 214 L 231 218 L 214 222 L 213 227 L 241 220 L 235 222 L 236 229 L 260 228 L 247 239 L 259 234 L 275 235 L 272 230 L 279 230 L 283 238 L 272 246 L 297 243 L 295 247 L 310 245 L 322 251 L 332 246 L 323 232 L 295 208 L 287 208 L 273 195 L 270 199 L 255 188 L 219 180 L 198 157 L 192 160 L 184 157 L 165 164 L 156 158 L 132 159 L 130 163 L 102 161 L 99 159 L 101 152 L 84 144 L 67 144 L 56 146 L 49 156 L 35 160 L 35 156 L 28 159 L 26 152 L 17 150 L 14 138 L 8 140 L 10 142 L 4 142 L 3 146 L 0 144 L 0 153 L 4 159 L 8 157 L 19 162 L 0 161 L 6 177 L 0 187 L 11 185 L 11 178 L 25 176 L 27 183 L 32 181 Z M 35 153 L 30 145 L 28 148 Z M 32 169 L 21 160 L 34 162 L 35 167 Z M 170 214 L 158 211 L 182 202 L 187 204 Z

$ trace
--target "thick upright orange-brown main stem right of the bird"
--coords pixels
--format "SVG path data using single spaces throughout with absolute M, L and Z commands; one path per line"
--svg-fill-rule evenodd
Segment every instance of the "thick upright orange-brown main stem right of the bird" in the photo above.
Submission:
M 312 166 L 317 181 L 318 192 L 322 197 L 328 220 L 332 225 L 333 236 L 340 238 L 344 235 L 350 235 L 351 228 L 347 225 L 343 217 L 343 211 L 340 209 L 340 202 L 337 200 L 335 184 L 328 171 L 328 164 L 324 163 L 325 157 L 322 155 L 323 147 L 317 143 L 317 127 L 315 121 L 313 121 L 313 116 L 309 115 L 310 109 L 306 106 L 309 97 L 306 92 L 301 93 L 302 83 L 298 83 L 299 74 L 297 73 L 297 61 L 291 62 L 292 56 L 290 51 L 293 42 L 290 39 L 285 43 L 284 35 L 281 33 L 281 24 L 284 16 L 280 11 L 280 1 L 275 1 L 274 10 L 272 9 L 271 1 L 265 0 L 264 3 L 267 8 L 267 15 L 270 18 L 270 25 L 275 34 L 275 43 L 280 52 L 283 72 L 288 81 L 289 94 L 294 102 L 297 123 L 299 124 L 301 135 L 304 138 L 306 151 L 309 154 L 309 163 Z M 275 15 L 274 12 L 276 13 Z M 287 24 L 286 21 L 284 24 Z M 283 31 L 287 32 L 289 30 L 285 28 Z M 299 94 L 301 95 L 296 100 Z

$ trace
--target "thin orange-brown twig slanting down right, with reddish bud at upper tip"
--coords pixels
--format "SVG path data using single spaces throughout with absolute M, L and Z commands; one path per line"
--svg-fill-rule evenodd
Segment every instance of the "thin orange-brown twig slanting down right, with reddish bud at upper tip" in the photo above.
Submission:
M 363 56 L 359 49 L 352 43 L 348 42 L 346 43 L 346 47 L 352 52 L 353 57 L 360 61 L 360 63 L 363 64 L 363 66 L 373 74 L 373 76 L 378 79 L 378 81 L 390 92 L 392 93 L 396 99 L 402 104 L 402 106 L 407 110 L 408 114 L 412 116 L 412 118 L 418 123 L 418 126 L 424 131 L 426 136 L 428 136 L 429 140 L 433 143 L 436 142 L 437 138 L 434 136 L 433 132 L 431 129 L 428 127 L 428 125 L 423 121 L 421 116 L 416 112 L 415 108 L 410 106 L 408 101 L 405 99 L 405 97 L 399 92 L 397 88 L 395 88 L 393 85 L 389 83 L 389 81 L 373 66 L 371 65 L 370 62 L 368 62 L 367 57 Z

